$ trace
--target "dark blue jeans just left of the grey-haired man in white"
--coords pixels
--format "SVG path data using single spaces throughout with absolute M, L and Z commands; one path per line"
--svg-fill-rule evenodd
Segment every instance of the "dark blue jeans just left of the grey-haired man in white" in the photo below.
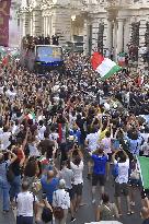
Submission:
M 21 176 L 15 176 L 11 182 L 10 198 L 13 200 L 21 191 Z

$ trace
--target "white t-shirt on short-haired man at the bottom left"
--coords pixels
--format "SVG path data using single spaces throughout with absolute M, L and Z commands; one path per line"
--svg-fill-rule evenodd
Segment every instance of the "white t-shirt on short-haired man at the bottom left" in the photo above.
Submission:
M 18 202 L 18 216 L 30 216 L 32 217 L 33 214 L 33 203 L 37 201 L 37 198 L 33 196 L 32 192 L 20 192 L 16 198 Z

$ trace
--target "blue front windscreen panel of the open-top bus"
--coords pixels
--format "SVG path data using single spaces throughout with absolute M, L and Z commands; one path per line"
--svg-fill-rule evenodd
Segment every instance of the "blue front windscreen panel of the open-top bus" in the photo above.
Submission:
M 57 46 L 37 45 L 35 50 L 36 61 L 41 62 L 58 62 L 62 61 L 62 49 Z

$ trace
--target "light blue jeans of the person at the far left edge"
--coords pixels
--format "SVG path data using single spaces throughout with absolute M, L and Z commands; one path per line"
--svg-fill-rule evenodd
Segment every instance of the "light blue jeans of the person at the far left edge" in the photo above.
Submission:
M 10 197 L 9 197 L 10 185 L 7 180 L 0 179 L 0 198 L 3 201 L 3 211 L 10 209 Z

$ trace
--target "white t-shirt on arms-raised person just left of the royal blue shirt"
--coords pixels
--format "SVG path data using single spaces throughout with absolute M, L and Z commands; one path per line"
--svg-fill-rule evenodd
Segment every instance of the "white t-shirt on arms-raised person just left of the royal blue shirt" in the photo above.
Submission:
M 71 169 L 73 172 L 73 185 L 79 185 L 83 182 L 83 161 L 80 162 L 79 166 L 70 162 Z

